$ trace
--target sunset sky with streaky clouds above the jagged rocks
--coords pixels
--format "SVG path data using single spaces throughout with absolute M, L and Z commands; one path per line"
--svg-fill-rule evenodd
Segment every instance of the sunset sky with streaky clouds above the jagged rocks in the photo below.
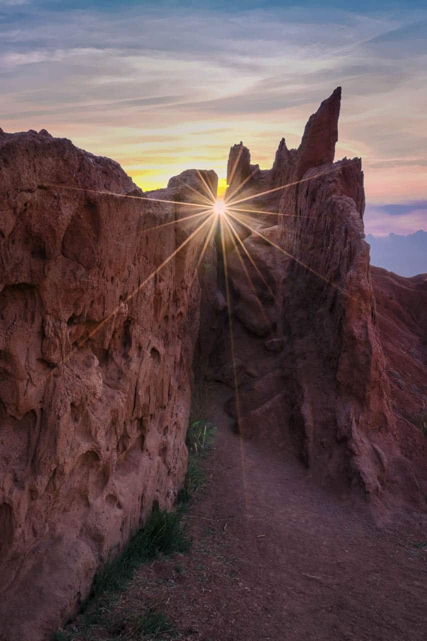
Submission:
M 0 0 L 0 127 L 144 190 L 194 167 L 224 188 L 232 144 L 270 168 L 341 85 L 335 159 L 362 157 L 366 230 L 407 235 L 427 231 L 426 42 L 427 0 Z

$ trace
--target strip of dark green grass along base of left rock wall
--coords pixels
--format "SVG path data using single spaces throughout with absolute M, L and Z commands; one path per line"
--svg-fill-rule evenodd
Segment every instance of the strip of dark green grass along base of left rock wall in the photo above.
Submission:
M 141 614 L 118 607 L 120 592 L 126 590 L 134 572 L 144 563 L 160 555 L 186 553 L 191 547 L 182 517 L 193 494 L 206 485 L 202 456 L 213 445 L 215 431 L 209 421 L 195 421 L 189 426 L 188 467 L 184 486 L 177 495 L 177 509 L 168 513 L 155 504 L 144 528 L 129 539 L 121 553 L 118 546 L 111 550 L 107 562 L 93 578 L 81 613 L 65 629 L 55 632 L 51 641 L 136 641 L 177 636 L 163 612 L 149 607 Z M 177 566 L 176 571 L 181 574 L 184 568 Z

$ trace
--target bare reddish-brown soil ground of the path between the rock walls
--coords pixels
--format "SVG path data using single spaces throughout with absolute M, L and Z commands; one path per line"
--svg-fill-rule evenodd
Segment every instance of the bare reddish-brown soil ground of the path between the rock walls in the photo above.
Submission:
M 242 441 L 223 394 L 211 390 L 218 432 L 187 517 L 193 548 L 141 567 L 117 618 L 150 604 L 192 641 L 424 641 L 421 521 L 380 527 L 360 501 L 316 487 L 294 456 Z

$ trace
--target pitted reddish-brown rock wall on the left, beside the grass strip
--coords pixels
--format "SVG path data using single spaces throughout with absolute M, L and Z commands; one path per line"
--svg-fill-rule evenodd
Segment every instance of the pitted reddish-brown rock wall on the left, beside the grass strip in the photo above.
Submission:
M 1 133 L 0 187 L 0 638 L 34 641 L 182 484 L 204 236 L 165 263 L 197 209 L 45 131 Z

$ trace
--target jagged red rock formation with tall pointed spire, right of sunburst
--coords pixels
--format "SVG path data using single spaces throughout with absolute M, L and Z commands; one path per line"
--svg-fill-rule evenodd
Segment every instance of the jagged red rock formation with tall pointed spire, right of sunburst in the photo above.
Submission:
M 273 168 L 230 199 L 246 210 L 233 222 L 245 229 L 258 271 L 245 251 L 229 247 L 241 367 L 239 403 L 232 395 L 227 409 L 243 435 L 301 456 L 320 482 L 343 490 L 350 482 L 391 508 L 422 508 L 425 448 L 420 458 L 419 431 L 412 447 L 402 445 L 403 410 L 387 374 L 364 240 L 361 162 L 333 162 L 340 101 L 337 88 L 310 117 L 300 147 L 287 149 L 282 139 Z M 227 340 L 221 349 L 230 358 Z M 213 378 L 227 383 L 224 371 L 216 354 Z

